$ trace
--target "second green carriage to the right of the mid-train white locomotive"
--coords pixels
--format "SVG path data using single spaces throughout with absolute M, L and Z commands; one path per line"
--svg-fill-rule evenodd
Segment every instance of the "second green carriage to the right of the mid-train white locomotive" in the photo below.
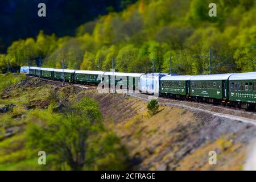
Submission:
M 226 102 L 229 96 L 228 78 L 232 74 L 192 76 L 191 97 L 208 102 Z

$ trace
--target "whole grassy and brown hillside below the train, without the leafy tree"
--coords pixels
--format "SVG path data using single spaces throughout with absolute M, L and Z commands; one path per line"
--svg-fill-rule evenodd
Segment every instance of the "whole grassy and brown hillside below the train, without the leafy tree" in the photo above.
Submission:
M 256 137 L 254 125 L 203 111 L 160 105 L 159 113 L 151 117 L 147 102 L 131 96 L 99 94 L 93 88 L 72 85 L 62 87 L 36 78 L 19 79 L 22 81 L 5 86 L 1 93 L 0 169 L 3 170 L 54 169 L 52 163 L 45 168 L 38 166 L 37 154 L 28 152 L 27 119 L 52 109 L 54 114 L 69 101 L 78 102 L 86 96 L 98 102 L 106 130 L 113 130 L 127 148 L 129 169 L 241 170 L 247 147 Z M 53 98 L 57 98 L 54 107 Z M 3 110 L 4 107 L 9 110 Z M 209 151 L 217 152 L 217 165 L 209 165 Z

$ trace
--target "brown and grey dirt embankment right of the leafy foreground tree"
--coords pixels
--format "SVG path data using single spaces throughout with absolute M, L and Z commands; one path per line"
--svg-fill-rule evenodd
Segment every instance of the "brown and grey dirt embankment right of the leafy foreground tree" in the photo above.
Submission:
M 85 95 L 100 103 L 106 125 L 129 147 L 133 169 L 242 169 L 246 146 L 256 137 L 254 125 L 201 111 L 160 106 L 150 117 L 147 102 L 130 96 L 92 90 Z M 216 151 L 217 165 L 208 163 L 209 151 Z

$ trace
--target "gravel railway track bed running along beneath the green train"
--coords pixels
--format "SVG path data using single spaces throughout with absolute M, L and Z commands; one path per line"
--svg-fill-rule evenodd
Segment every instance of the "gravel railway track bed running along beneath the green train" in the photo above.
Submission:
M 56 81 L 56 80 L 48 80 L 45 78 L 39 78 L 35 76 L 27 76 L 31 78 L 38 78 L 41 80 L 46 80 L 50 82 L 55 82 L 57 84 L 62 84 L 62 81 Z M 73 85 L 73 86 L 79 86 L 80 88 L 83 89 L 97 89 L 97 86 L 94 85 L 81 85 L 81 84 L 69 84 L 65 82 L 65 85 Z M 150 101 L 150 97 L 146 94 L 141 94 L 141 93 L 126 93 L 128 96 L 137 98 L 138 100 L 143 100 L 143 101 Z M 158 102 L 160 105 L 166 105 L 166 106 L 176 106 L 176 107 L 183 107 L 187 108 L 193 111 L 203 111 L 208 114 L 215 115 L 217 117 L 222 117 L 222 118 L 228 118 L 232 119 L 234 121 L 240 121 L 240 122 L 245 122 L 245 123 L 250 123 L 254 126 L 256 126 L 256 113 L 252 111 L 245 111 L 241 109 L 232 109 L 230 107 L 224 107 L 224 106 L 216 106 L 212 104 L 207 104 L 207 103 L 201 103 L 201 102 L 192 102 L 192 101 L 185 101 L 185 100 L 175 100 L 173 98 L 158 98 Z

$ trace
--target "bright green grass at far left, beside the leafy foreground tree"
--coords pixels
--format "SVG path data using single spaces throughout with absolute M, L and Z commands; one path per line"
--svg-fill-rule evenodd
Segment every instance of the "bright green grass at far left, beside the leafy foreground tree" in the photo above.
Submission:
M 16 86 L 19 81 L 26 78 L 24 75 L 0 75 L 0 93 L 10 88 L 8 98 L 0 99 L 0 106 L 14 104 L 13 111 L 0 114 L 0 170 L 38 170 L 36 151 L 28 150 L 26 147 L 26 118 L 30 111 L 25 107 L 32 101 L 46 100 L 49 96 L 51 85 L 38 87 Z M 36 82 L 36 81 L 35 81 Z M 40 104 L 40 102 L 39 102 Z M 3 138 L 7 128 L 20 130 L 13 137 Z

